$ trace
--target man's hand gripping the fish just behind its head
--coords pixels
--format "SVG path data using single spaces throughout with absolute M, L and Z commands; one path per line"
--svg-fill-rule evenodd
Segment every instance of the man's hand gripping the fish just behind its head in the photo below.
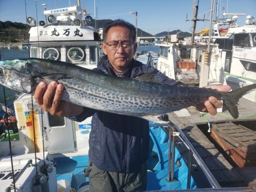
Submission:
M 57 116 L 77 116 L 82 113 L 83 107 L 61 101 L 64 86 L 52 81 L 51 84 L 46 85 L 44 82 L 36 87 L 34 97 L 39 107 L 52 115 Z

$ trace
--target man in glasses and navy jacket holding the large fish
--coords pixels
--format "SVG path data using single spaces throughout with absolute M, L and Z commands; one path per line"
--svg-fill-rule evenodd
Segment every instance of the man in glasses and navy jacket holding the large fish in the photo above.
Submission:
M 126 78 L 156 70 L 133 59 L 137 49 L 135 33 L 133 25 L 120 19 L 106 24 L 102 43 L 105 60 L 94 70 Z M 160 72 L 156 74 L 157 80 L 164 80 L 168 84 L 174 82 Z M 230 87 L 218 86 L 214 89 L 228 91 Z M 146 190 L 149 142 L 147 120 L 60 101 L 62 91 L 63 85 L 57 85 L 57 82 L 51 82 L 48 87 L 40 83 L 34 96 L 39 106 L 52 115 L 68 116 L 77 121 L 93 115 L 89 140 L 89 158 L 92 161 L 90 191 Z M 214 115 L 216 108 L 221 106 L 220 101 L 210 97 L 197 108 Z

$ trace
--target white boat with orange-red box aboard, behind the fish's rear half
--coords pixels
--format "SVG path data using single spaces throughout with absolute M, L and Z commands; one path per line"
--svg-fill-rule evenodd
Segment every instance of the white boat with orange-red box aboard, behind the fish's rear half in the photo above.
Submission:
M 160 47 L 160 54 L 156 68 L 168 77 L 185 84 L 200 84 L 200 80 L 207 84 L 223 84 L 224 71 L 216 44 L 210 44 L 211 56 L 203 56 L 208 48 L 207 42 L 192 42 L 190 37 L 183 41 L 177 40 L 177 35 L 166 36 Z M 209 77 L 201 73 L 202 65 L 209 64 Z M 204 78 L 204 79 L 203 79 Z

